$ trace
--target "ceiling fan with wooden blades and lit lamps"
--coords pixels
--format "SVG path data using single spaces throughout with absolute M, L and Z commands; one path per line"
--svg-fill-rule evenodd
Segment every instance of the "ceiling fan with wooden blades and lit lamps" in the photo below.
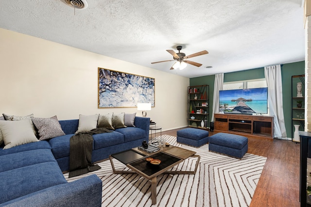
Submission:
M 195 63 L 195 62 L 192 62 L 192 61 L 189 61 L 189 60 L 186 60 L 186 59 L 193 58 L 193 57 L 196 57 L 196 56 L 199 56 L 199 55 L 208 54 L 208 52 L 206 50 L 203 50 L 201 52 L 197 52 L 197 53 L 194 53 L 192 55 L 187 55 L 186 56 L 185 53 L 180 52 L 180 50 L 183 48 L 182 46 L 177 46 L 176 48 L 178 50 L 178 53 L 175 53 L 174 50 L 172 50 L 172 49 L 167 49 L 166 50 L 169 53 L 171 53 L 171 55 L 173 55 L 173 60 L 159 61 L 159 62 L 154 62 L 154 63 L 151 63 L 151 64 L 163 63 L 163 62 L 169 62 L 169 61 L 176 61 L 176 63 L 173 64 L 173 66 L 171 67 L 170 70 L 177 69 L 178 67 L 179 67 L 180 70 L 182 70 L 182 69 L 184 69 L 187 66 L 187 64 L 192 64 L 194 66 L 200 67 L 202 64 Z

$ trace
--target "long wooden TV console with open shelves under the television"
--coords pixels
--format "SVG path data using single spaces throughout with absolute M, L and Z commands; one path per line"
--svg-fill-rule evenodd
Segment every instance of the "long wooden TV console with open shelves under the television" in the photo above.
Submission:
M 273 116 L 215 113 L 214 131 L 273 141 Z

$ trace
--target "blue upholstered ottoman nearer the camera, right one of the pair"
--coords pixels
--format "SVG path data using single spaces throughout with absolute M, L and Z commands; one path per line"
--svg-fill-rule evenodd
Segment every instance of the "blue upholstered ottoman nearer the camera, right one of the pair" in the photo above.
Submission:
M 217 133 L 209 137 L 208 150 L 242 159 L 248 149 L 248 139 L 235 134 Z

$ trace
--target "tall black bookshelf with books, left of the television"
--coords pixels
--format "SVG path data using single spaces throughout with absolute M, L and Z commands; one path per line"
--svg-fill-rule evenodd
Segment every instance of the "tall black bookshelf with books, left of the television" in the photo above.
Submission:
M 196 85 L 188 87 L 188 127 L 209 128 L 208 114 L 208 85 Z M 191 119 L 194 117 L 194 119 Z M 203 121 L 204 125 L 201 126 Z

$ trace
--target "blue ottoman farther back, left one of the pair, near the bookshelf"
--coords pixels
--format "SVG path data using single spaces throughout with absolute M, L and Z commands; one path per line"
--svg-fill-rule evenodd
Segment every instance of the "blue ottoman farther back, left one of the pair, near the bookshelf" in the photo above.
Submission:
M 200 147 L 208 143 L 208 131 L 197 128 L 184 128 L 177 131 L 177 143 Z

